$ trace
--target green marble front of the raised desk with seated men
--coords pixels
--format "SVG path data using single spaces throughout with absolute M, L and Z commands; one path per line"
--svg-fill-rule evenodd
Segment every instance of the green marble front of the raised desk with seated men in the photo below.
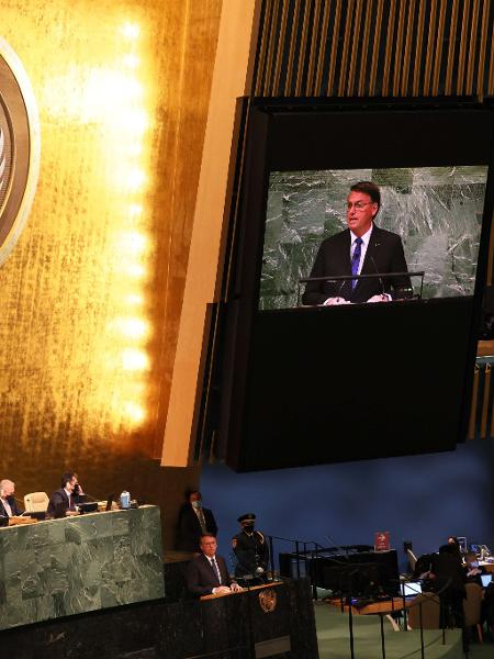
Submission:
M 0 629 L 162 596 L 157 506 L 0 528 Z

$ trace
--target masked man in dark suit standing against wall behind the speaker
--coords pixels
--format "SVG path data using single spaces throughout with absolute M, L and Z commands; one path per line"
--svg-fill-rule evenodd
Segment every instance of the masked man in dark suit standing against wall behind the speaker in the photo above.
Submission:
M 200 539 L 204 534 L 217 536 L 213 512 L 202 507 L 199 490 L 187 490 L 186 502 L 179 512 L 177 549 L 201 554 Z

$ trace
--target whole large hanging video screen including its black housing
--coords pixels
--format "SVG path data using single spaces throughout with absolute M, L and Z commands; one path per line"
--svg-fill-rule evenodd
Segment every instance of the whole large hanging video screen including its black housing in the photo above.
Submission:
M 214 410 L 239 471 L 467 436 L 494 109 L 311 102 L 259 100 L 246 123 Z

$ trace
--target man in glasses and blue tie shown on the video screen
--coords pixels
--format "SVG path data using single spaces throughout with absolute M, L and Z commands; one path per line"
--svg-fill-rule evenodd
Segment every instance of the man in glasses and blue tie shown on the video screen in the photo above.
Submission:
M 326 238 L 317 253 L 311 277 L 406 272 L 402 239 L 375 226 L 381 191 L 370 181 L 350 188 L 345 231 Z M 373 277 L 344 281 L 310 281 L 302 295 L 306 305 L 389 302 L 413 294 L 408 277 Z

